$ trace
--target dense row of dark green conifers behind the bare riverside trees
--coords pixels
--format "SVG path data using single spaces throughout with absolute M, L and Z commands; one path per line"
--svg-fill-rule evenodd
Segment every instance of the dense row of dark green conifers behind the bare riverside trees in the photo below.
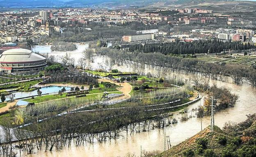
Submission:
M 193 42 L 180 42 L 176 40 L 175 42 L 166 42 L 159 44 L 136 44 L 129 48 L 130 52 L 135 50 L 152 53 L 159 52 L 165 55 L 169 54 L 195 54 L 195 53 L 221 53 L 222 51 L 238 51 L 255 49 L 254 44 L 242 42 L 224 42 L 222 40 L 196 40 Z

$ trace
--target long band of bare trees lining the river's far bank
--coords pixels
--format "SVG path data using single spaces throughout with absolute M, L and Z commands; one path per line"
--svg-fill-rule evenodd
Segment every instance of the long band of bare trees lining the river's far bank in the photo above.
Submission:
M 181 57 L 174 55 L 165 55 L 162 53 L 142 53 L 133 51 L 131 53 L 118 51 L 111 48 L 98 48 L 98 55 L 106 55 L 113 60 L 115 64 L 127 64 L 132 70 L 140 75 L 146 75 L 145 69 L 155 69 L 155 77 L 166 77 L 166 73 L 192 73 L 214 80 L 228 81 L 229 77 L 235 84 L 249 82 L 256 86 L 256 65 L 240 66 L 228 65 L 225 63 L 214 64 L 199 61 L 197 58 Z

